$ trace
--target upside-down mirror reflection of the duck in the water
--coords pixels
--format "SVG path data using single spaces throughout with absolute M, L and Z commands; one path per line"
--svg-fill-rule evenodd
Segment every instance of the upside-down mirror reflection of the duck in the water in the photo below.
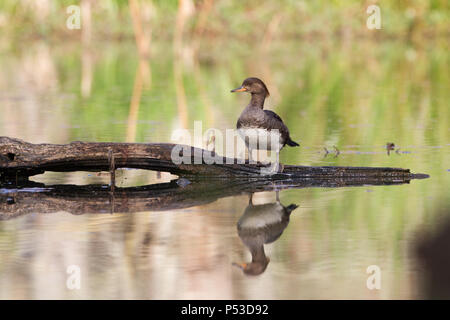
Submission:
M 277 192 L 274 203 L 253 204 L 253 194 L 244 214 L 237 223 L 239 237 L 250 250 L 250 263 L 233 263 L 247 275 L 262 274 L 269 264 L 269 257 L 264 252 L 264 245 L 276 241 L 289 224 L 289 217 L 298 206 L 283 206 Z

